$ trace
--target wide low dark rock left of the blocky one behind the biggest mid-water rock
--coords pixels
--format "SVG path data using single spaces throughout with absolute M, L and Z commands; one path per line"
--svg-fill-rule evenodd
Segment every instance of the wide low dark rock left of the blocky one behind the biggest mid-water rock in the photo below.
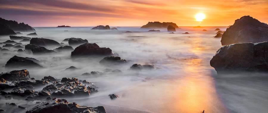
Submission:
M 51 40 L 51 39 L 46 39 L 46 38 L 32 38 L 30 40 L 30 44 L 34 44 L 34 45 L 60 45 L 60 43 L 58 43 L 55 40 Z

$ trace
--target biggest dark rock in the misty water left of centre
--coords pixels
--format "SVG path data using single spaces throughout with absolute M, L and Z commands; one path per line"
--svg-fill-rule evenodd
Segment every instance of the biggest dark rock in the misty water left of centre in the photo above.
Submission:
M 71 57 L 84 55 L 111 55 L 110 48 L 100 48 L 96 43 L 85 43 L 79 45 L 71 52 Z

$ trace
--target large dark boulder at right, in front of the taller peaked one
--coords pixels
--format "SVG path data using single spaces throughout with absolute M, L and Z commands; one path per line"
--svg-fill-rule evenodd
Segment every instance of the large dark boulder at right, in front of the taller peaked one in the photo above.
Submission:
M 210 61 L 217 72 L 268 71 L 268 42 L 222 46 Z

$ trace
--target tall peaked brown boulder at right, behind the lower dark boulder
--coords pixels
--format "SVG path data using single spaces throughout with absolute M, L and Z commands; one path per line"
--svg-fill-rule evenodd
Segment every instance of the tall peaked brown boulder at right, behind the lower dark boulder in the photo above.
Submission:
M 268 25 L 250 16 L 243 16 L 226 29 L 222 45 L 234 43 L 259 43 L 268 41 Z

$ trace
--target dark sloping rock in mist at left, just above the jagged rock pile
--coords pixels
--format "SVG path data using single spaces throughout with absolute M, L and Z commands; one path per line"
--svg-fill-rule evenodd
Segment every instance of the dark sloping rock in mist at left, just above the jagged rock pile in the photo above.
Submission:
M 34 58 L 14 56 L 7 61 L 5 68 L 43 68 L 38 64 L 39 62 Z

